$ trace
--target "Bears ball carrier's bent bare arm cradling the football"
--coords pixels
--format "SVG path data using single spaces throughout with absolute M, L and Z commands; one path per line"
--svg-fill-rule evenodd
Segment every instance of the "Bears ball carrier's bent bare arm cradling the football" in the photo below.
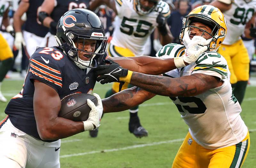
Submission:
M 57 140 L 84 131 L 83 122 L 58 117 L 61 101 L 53 88 L 36 81 L 34 85 L 34 114 L 37 131 L 41 139 Z

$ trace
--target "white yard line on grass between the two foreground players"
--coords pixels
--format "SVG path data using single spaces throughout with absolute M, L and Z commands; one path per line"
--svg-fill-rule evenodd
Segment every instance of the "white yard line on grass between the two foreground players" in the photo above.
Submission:
M 141 144 L 141 145 L 127 146 L 127 147 L 124 147 L 124 148 L 94 150 L 94 151 L 84 152 L 84 153 L 74 153 L 74 154 L 70 154 L 70 155 L 61 155 L 60 158 L 82 156 L 82 155 L 102 153 L 102 152 L 114 152 L 114 151 L 128 150 L 128 149 L 135 149 L 135 148 L 143 148 L 143 147 L 146 147 L 146 146 L 155 146 L 155 145 L 166 144 L 166 143 L 181 142 L 183 140 L 184 139 L 174 139 L 174 140 L 170 140 L 170 141 L 160 141 L 160 142 L 153 142 L 153 143 L 145 143 L 145 144 Z

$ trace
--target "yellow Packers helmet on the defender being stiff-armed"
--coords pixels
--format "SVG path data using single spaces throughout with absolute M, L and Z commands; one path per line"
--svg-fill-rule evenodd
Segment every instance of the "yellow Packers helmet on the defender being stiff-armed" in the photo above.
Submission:
M 224 15 L 218 8 L 212 5 L 203 5 L 195 8 L 184 17 L 182 22 L 183 27 L 180 32 L 180 40 L 185 46 L 187 43 L 186 41 L 190 40 L 190 27 L 195 27 L 190 26 L 192 22 L 203 23 L 212 29 L 212 32 L 207 32 L 202 28 L 196 27 L 204 33 L 211 35 L 212 38 L 206 39 L 209 41 L 208 49 L 211 51 L 215 51 L 220 47 L 227 34 L 227 23 Z

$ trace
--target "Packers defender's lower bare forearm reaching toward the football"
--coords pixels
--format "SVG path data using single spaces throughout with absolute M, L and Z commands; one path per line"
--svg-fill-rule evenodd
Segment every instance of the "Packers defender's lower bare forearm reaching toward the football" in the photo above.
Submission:
M 155 94 L 137 87 L 125 89 L 108 98 L 102 99 L 103 112 L 109 113 L 128 110 L 154 96 Z

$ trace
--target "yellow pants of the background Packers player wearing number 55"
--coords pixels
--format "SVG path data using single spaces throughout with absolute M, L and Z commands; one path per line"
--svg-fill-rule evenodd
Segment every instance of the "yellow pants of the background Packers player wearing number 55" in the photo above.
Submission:
M 109 53 L 110 57 L 134 57 L 135 56 L 131 50 L 114 46 L 111 43 L 108 46 L 108 53 Z M 127 89 L 127 88 L 128 88 L 128 83 L 124 83 L 122 90 Z M 113 83 L 112 90 L 116 93 L 119 91 L 119 83 L 118 82 Z

